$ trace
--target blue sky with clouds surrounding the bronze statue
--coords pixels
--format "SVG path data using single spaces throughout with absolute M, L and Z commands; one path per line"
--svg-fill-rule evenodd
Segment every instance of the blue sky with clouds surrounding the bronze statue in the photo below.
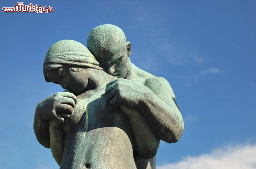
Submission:
M 1 169 L 58 168 L 33 133 L 37 103 L 63 91 L 44 81 L 43 59 L 59 40 L 86 46 L 101 24 L 120 27 L 131 61 L 166 78 L 176 95 L 185 130 L 177 143 L 161 142 L 159 169 L 256 166 L 255 1 L 22 2 L 54 12 L 0 12 Z

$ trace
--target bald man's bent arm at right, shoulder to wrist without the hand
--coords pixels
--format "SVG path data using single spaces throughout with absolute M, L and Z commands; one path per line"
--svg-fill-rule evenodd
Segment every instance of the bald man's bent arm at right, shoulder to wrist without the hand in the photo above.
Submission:
M 152 130 L 159 139 L 168 143 L 177 142 L 184 130 L 184 123 L 174 92 L 169 82 L 163 77 L 152 77 L 145 82 L 150 89 L 142 98 L 138 109 L 148 123 L 157 126 Z

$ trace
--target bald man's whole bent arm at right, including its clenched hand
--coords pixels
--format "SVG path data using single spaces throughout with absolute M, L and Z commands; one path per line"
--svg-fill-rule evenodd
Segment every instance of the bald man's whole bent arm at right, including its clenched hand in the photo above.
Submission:
M 177 142 L 184 123 L 175 95 L 167 80 L 151 77 L 145 86 L 139 82 L 118 78 L 107 84 L 110 104 L 123 105 L 140 111 L 157 138 L 168 143 Z

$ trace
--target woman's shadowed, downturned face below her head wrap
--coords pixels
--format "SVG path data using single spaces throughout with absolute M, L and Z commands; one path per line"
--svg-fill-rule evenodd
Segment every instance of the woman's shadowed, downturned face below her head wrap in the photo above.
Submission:
M 88 77 L 79 68 L 62 66 L 60 68 L 47 70 L 47 79 L 50 82 L 60 84 L 64 89 L 79 95 L 86 91 Z

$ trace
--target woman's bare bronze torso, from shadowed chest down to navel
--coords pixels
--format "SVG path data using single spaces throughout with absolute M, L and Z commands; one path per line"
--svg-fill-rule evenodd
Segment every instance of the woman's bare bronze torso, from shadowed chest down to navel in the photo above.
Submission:
M 107 102 L 104 90 L 80 95 L 73 114 L 63 124 L 61 169 L 136 168 L 128 122 Z

